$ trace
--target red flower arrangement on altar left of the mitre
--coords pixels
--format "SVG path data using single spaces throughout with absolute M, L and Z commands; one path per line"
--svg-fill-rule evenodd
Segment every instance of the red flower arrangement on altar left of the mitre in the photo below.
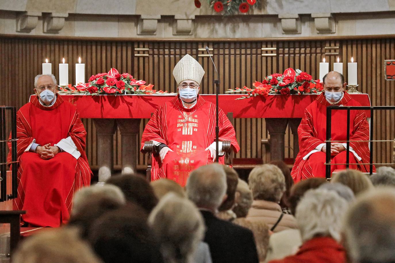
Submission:
M 175 94 L 167 91 L 154 90 L 154 85 L 145 85 L 144 80 L 135 80 L 129 73 L 120 74 L 117 69 L 111 68 L 107 73 L 92 75 L 88 83 L 79 83 L 73 87 L 60 87 L 60 93 L 80 95 L 100 94 Z

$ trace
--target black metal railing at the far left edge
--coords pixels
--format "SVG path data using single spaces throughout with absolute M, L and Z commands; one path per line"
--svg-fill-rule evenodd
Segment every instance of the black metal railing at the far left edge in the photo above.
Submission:
M 11 112 L 11 139 L 6 131 L 6 111 Z M 0 202 L 17 197 L 17 109 L 0 106 Z M 11 142 L 11 162 L 7 162 L 7 143 Z M 7 195 L 7 166 L 12 168 L 12 194 Z

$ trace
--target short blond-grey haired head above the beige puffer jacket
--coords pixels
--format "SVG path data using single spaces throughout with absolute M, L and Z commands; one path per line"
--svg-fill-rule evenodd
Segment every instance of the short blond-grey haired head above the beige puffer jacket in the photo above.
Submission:
M 263 164 L 252 169 L 248 175 L 248 185 L 254 200 L 278 203 L 285 191 L 285 178 L 274 164 Z

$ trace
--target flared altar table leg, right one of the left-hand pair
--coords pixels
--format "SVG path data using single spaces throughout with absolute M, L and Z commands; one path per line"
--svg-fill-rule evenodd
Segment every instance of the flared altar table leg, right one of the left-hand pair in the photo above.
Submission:
M 134 173 L 137 167 L 139 147 L 139 129 L 141 119 L 117 119 L 121 133 L 122 174 Z

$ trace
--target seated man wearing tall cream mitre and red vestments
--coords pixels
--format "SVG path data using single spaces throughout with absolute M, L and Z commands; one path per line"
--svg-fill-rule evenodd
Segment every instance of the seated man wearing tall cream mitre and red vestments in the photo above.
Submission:
M 168 178 L 184 186 L 192 170 L 215 159 L 215 104 L 198 94 L 203 75 L 199 62 L 185 55 L 173 70 L 179 94 L 160 106 L 144 129 L 141 150 L 144 142 L 154 141 L 159 151 L 159 156 L 152 158 L 152 181 Z M 231 141 L 235 152 L 240 147 L 229 119 L 222 110 L 218 115 L 218 154 L 219 162 L 224 164 L 221 141 Z

